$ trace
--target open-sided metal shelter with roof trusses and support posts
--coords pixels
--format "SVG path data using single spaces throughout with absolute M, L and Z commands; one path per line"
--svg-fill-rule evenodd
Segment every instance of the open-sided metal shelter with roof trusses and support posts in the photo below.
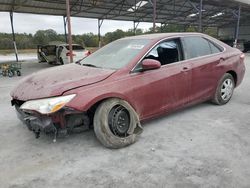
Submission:
M 236 43 L 240 28 L 250 27 L 248 0 L 0 0 L 0 11 L 10 13 L 17 61 L 13 12 L 62 16 L 70 46 L 71 16 L 98 19 L 99 44 L 105 19 L 132 21 L 134 31 L 140 22 L 153 23 L 153 30 L 156 23 L 196 26 L 200 32 L 204 27 L 216 27 L 218 34 L 228 33 Z M 246 32 L 250 37 L 250 31 Z

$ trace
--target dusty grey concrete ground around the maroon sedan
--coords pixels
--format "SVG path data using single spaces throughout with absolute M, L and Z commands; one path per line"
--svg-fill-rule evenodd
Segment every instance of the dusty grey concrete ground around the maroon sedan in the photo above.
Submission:
M 250 55 L 224 106 L 203 103 L 145 123 L 138 142 L 104 148 L 93 131 L 52 143 L 16 118 L 0 77 L 0 187 L 250 187 Z M 23 63 L 24 75 L 49 67 Z

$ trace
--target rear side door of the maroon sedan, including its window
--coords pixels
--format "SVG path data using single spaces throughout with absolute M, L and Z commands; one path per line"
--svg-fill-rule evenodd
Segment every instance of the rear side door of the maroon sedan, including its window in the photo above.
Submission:
M 192 67 L 190 101 L 209 99 L 217 85 L 216 66 L 222 49 L 202 36 L 182 38 L 185 59 Z

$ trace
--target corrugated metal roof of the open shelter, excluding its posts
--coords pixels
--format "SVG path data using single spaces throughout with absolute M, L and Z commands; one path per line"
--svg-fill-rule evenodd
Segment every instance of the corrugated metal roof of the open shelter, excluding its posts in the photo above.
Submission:
M 152 22 L 150 0 L 136 11 L 128 11 L 140 0 L 70 0 L 75 17 Z M 203 25 L 226 26 L 236 22 L 235 11 L 242 4 L 241 23 L 250 25 L 250 2 L 247 0 L 203 0 Z M 198 25 L 199 0 L 157 0 L 156 22 Z M 65 0 L 0 0 L 0 11 L 66 15 Z M 220 16 L 214 16 L 222 13 Z M 193 14 L 194 16 L 190 16 Z M 195 15 L 196 14 L 196 15 Z

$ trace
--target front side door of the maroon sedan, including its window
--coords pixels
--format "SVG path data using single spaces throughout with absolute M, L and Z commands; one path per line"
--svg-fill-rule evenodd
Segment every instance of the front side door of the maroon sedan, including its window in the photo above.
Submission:
M 161 68 L 143 71 L 139 64 L 131 74 L 133 84 L 136 84 L 133 97 L 137 101 L 140 118 L 148 119 L 188 103 L 191 67 L 182 61 L 180 39 L 159 43 L 144 59 L 160 61 Z

